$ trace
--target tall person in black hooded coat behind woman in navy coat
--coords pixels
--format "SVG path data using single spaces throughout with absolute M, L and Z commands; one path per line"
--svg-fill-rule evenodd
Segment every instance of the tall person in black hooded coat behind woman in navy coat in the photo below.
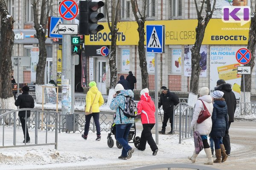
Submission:
M 231 85 L 226 83 L 224 79 L 219 79 L 217 81 L 217 87 L 215 87 L 214 90 L 222 91 L 224 93 L 223 98 L 225 99 L 227 104 L 227 114 L 228 114 L 229 120 L 228 120 L 228 129 L 226 130 L 226 134 L 223 137 L 223 144 L 225 146 L 227 155 L 230 155 L 231 147 L 230 147 L 229 128 L 230 128 L 231 122 L 234 122 L 234 114 L 236 111 L 236 96 L 232 91 Z

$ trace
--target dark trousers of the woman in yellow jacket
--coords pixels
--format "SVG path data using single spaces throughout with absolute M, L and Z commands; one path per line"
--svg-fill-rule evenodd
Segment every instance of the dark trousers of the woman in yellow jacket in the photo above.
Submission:
M 99 125 L 99 113 L 91 113 L 89 115 L 85 115 L 85 125 L 84 125 L 84 136 L 88 135 L 89 127 L 90 127 L 90 119 L 93 116 L 93 120 L 96 126 L 96 134 L 100 135 L 100 125 Z

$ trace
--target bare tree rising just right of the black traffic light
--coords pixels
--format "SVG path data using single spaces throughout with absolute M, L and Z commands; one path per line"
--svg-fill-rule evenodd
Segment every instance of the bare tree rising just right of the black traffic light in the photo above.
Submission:
M 120 0 L 106 0 L 105 3 L 106 14 L 108 19 L 108 28 L 111 32 L 111 52 L 109 57 L 109 67 L 110 67 L 110 85 L 109 88 L 113 89 L 116 85 L 117 79 L 117 70 L 116 70 L 116 39 L 117 32 L 119 28 L 117 28 L 117 22 L 119 20 L 119 11 L 121 8 Z M 110 8 L 110 9 L 109 9 Z M 111 10 L 111 21 L 109 10 Z

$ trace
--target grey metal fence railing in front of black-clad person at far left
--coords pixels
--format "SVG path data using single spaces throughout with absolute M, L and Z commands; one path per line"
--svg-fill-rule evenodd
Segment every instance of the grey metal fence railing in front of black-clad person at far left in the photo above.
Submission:
M 2 126 L 3 134 L 2 136 L 2 146 L 0 148 L 7 148 L 7 147 L 24 147 L 24 146 L 42 146 L 42 145 L 55 145 L 55 149 L 57 149 L 57 144 L 58 144 L 58 116 L 56 112 L 48 112 L 48 111 L 41 111 L 38 109 L 31 109 L 31 108 L 24 108 L 24 109 L 18 109 L 18 110 L 12 110 L 12 111 L 7 111 L 4 109 L 0 109 L 0 125 Z M 28 125 L 25 125 L 28 128 L 33 128 L 35 131 L 35 144 L 26 144 L 25 145 L 17 145 L 16 144 L 16 131 L 17 127 L 20 126 L 20 119 L 18 119 L 17 113 L 19 111 L 25 111 L 25 115 L 27 117 L 27 111 L 31 111 L 31 119 L 28 121 Z M 5 112 L 5 113 L 4 113 Z M 41 116 L 44 116 L 44 119 L 40 119 Z M 9 120 L 6 121 L 6 118 Z M 7 124 L 5 122 L 8 122 Z M 5 138 L 10 137 L 10 136 L 5 136 L 5 127 L 9 126 L 12 127 L 13 125 L 13 139 L 12 139 L 12 145 L 5 145 Z M 40 129 L 41 125 L 44 125 L 45 127 L 45 141 L 41 140 L 40 142 L 38 141 L 38 130 Z M 48 141 L 48 131 L 50 130 L 51 127 L 54 127 L 55 129 L 55 137 L 54 137 L 54 142 L 49 143 Z M 26 130 L 25 130 L 25 140 L 26 140 Z M 31 135 L 30 135 L 31 136 Z M 42 142 L 44 141 L 44 142 Z

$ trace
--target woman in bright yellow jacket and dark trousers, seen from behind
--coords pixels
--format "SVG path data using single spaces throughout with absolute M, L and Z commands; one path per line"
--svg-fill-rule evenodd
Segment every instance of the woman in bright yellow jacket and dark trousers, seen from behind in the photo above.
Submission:
M 89 91 L 86 94 L 86 108 L 85 111 L 89 112 L 90 107 L 92 106 L 92 112 L 91 114 L 85 115 L 85 125 L 84 125 L 84 134 L 82 134 L 82 138 L 87 139 L 87 135 L 89 132 L 90 127 L 90 119 L 93 116 L 93 120 L 95 122 L 96 126 L 96 134 L 97 138 L 96 141 L 100 141 L 100 125 L 99 125 L 99 107 L 103 105 L 104 99 L 102 97 L 101 92 L 98 90 L 96 86 L 96 82 L 90 82 L 89 83 Z

